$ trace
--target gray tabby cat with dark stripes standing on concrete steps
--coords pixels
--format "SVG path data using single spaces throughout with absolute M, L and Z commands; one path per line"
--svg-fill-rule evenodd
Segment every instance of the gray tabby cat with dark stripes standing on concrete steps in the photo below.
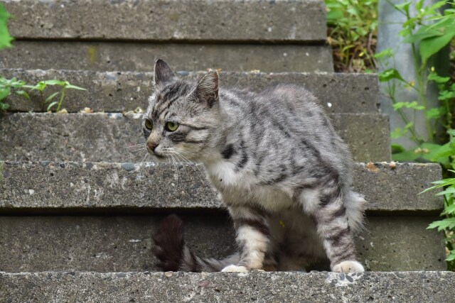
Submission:
M 350 189 L 352 160 L 306 89 L 278 85 L 259 94 L 221 89 L 218 72 L 178 79 L 163 60 L 144 114 L 146 148 L 158 160 L 202 162 L 234 222 L 240 252 L 194 255 L 170 216 L 154 236 L 164 270 L 307 270 L 328 258 L 334 272 L 363 272 L 353 232 L 365 200 Z

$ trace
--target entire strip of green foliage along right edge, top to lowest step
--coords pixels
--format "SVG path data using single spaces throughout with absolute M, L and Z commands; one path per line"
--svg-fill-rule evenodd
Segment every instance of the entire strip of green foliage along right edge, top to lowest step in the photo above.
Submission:
M 393 109 L 400 115 L 405 124 L 404 128 L 395 128 L 392 138 L 407 136 L 414 143 L 414 148 L 405 150 L 402 146 L 392 145 L 393 160 L 439 162 L 446 169 L 443 174 L 444 180 L 434 183 L 434 186 L 426 189 L 444 187 L 437 195 L 444 197 L 444 211 L 441 216 L 444 219 L 434 221 L 428 228 L 437 228 L 444 231 L 446 248 L 448 250 L 446 261 L 451 270 L 455 270 L 455 130 L 454 130 L 454 101 L 455 101 L 455 76 L 441 77 L 432 67 L 432 57 L 442 48 L 450 45 L 455 40 L 455 9 L 446 9 L 440 13 L 439 9 L 446 5 L 446 1 L 438 1 L 430 6 L 424 6 L 424 1 L 415 2 L 414 10 L 411 10 L 412 1 L 402 4 L 391 4 L 397 11 L 405 16 L 400 35 L 403 43 L 410 43 L 414 65 L 414 79 L 404 79 L 395 68 L 387 68 L 378 76 L 381 82 L 385 82 L 386 95 L 392 102 Z M 414 11 L 412 15 L 411 11 Z M 393 59 L 392 50 L 384 50 L 375 55 L 379 62 L 383 58 Z M 451 53 L 450 60 L 455 59 L 455 52 Z M 429 85 L 437 87 L 440 106 L 430 106 L 427 99 Z M 403 101 L 397 99 L 397 87 L 405 87 L 415 92 L 416 99 Z M 417 131 L 413 117 L 417 112 L 424 114 L 426 133 Z M 409 116 L 406 115 L 411 114 Z M 409 118 L 411 117 L 411 118 Z M 445 128 L 446 136 L 439 138 L 437 129 Z

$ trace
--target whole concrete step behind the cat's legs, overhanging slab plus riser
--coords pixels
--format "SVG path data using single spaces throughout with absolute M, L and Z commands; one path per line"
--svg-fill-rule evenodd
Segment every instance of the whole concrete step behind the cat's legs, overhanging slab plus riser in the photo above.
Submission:
M 181 165 L 177 179 L 170 165 L 151 162 L 137 172 L 132 163 L 1 163 L 0 271 L 157 270 L 151 234 L 171 212 L 183 215 L 196 253 L 235 250 L 232 222 L 200 167 Z M 445 269 L 441 234 L 426 229 L 441 200 L 418 194 L 441 168 L 392 167 L 355 165 L 353 187 L 369 201 L 359 260 L 369 270 Z

